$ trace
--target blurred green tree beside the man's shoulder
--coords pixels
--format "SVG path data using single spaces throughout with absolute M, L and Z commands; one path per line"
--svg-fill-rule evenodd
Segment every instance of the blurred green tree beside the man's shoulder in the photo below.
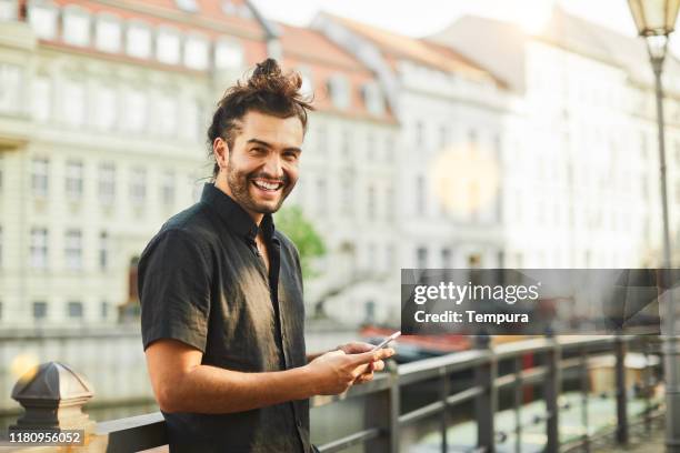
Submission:
M 314 225 L 304 217 L 299 207 L 281 209 L 276 215 L 277 230 L 281 230 L 296 244 L 300 252 L 302 275 L 312 278 L 317 274 L 311 266 L 314 258 L 326 254 L 326 244 L 314 230 Z

